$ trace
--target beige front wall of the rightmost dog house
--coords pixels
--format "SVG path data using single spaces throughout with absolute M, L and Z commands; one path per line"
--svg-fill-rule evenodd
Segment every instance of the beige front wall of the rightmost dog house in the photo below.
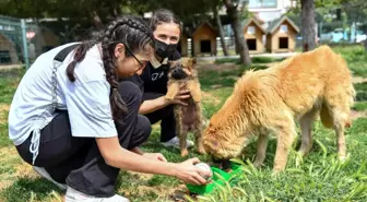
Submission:
M 286 24 L 288 26 L 288 32 L 287 33 L 281 33 L 280 27 L 281 25 Z M 271 36 L 271 48 L 268 50 L 271 52 L 289 52 L 289 51 L 295 51 L 296 48 L 296 31 L 291 26 L 288 22 L 282 23 L 273 33 Z M 280 37 L 288 37 L 288 49 L 280 49 L 279 48 L 279 38 Z M 268 43 L 268 41 L 267 41 Z

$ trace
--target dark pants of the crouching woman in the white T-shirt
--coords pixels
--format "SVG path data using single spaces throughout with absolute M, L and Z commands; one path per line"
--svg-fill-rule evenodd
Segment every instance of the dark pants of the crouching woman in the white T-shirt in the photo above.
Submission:
M 151 124 L 146 117 L 138 115 L 141 92 L 132 82 L 121 82 L 119 92 L 127 104 L 123 124 L 116 126 L 120 144 L 133 148 L 147 140 Z M 32 164 L 29 153 L 32 135 L 16 148 L 24 161 Z M 107 165 L 94 138 L 73 138 L 68 111 L 59 115 L 40 131 L 39 154 L 35 166 L 45 167 L 58 182 L 94 197 L 111 197 L 119 168 Z

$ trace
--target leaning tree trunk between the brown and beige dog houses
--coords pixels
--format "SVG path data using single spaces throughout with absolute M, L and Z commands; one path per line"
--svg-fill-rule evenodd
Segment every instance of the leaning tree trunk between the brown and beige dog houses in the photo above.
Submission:
M 251 58 L 242 34 L 242 28 L 238 17 L 237 5 L 234 5 L 232 0 L 223 0 L 227 8 L 227 15 L 230 19 L 230 25 L 235 33 L 236 47 L 239 52 L 240 62 L 247 67 L 251 66 Z

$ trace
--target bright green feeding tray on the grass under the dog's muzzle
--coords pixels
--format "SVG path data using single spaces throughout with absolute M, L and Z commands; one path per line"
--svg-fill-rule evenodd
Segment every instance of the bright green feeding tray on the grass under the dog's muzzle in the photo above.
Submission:
M 224 186 L 226 181 L 229 181 L 233 176 L 235 176 L 238 171 L 240 171 L 240 165 L 238 164 L 230 164 L 230 173 L 226 173 L 220 168 L 211 167 L 213 171 L 213 179 L 212 182 L 205 186 L 194 186 L 194 185 L 186 185 L 191 193 L 197 194 L 206 194 L 213 192 L 218 186 Z

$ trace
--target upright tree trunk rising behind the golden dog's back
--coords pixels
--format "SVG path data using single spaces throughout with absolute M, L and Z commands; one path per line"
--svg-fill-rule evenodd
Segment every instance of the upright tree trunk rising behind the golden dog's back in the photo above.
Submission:
M 303 51 L 309 51 L 316 47 L 315 33 L 315 0 L 300 0 L 301 7 L 301 35 Z

